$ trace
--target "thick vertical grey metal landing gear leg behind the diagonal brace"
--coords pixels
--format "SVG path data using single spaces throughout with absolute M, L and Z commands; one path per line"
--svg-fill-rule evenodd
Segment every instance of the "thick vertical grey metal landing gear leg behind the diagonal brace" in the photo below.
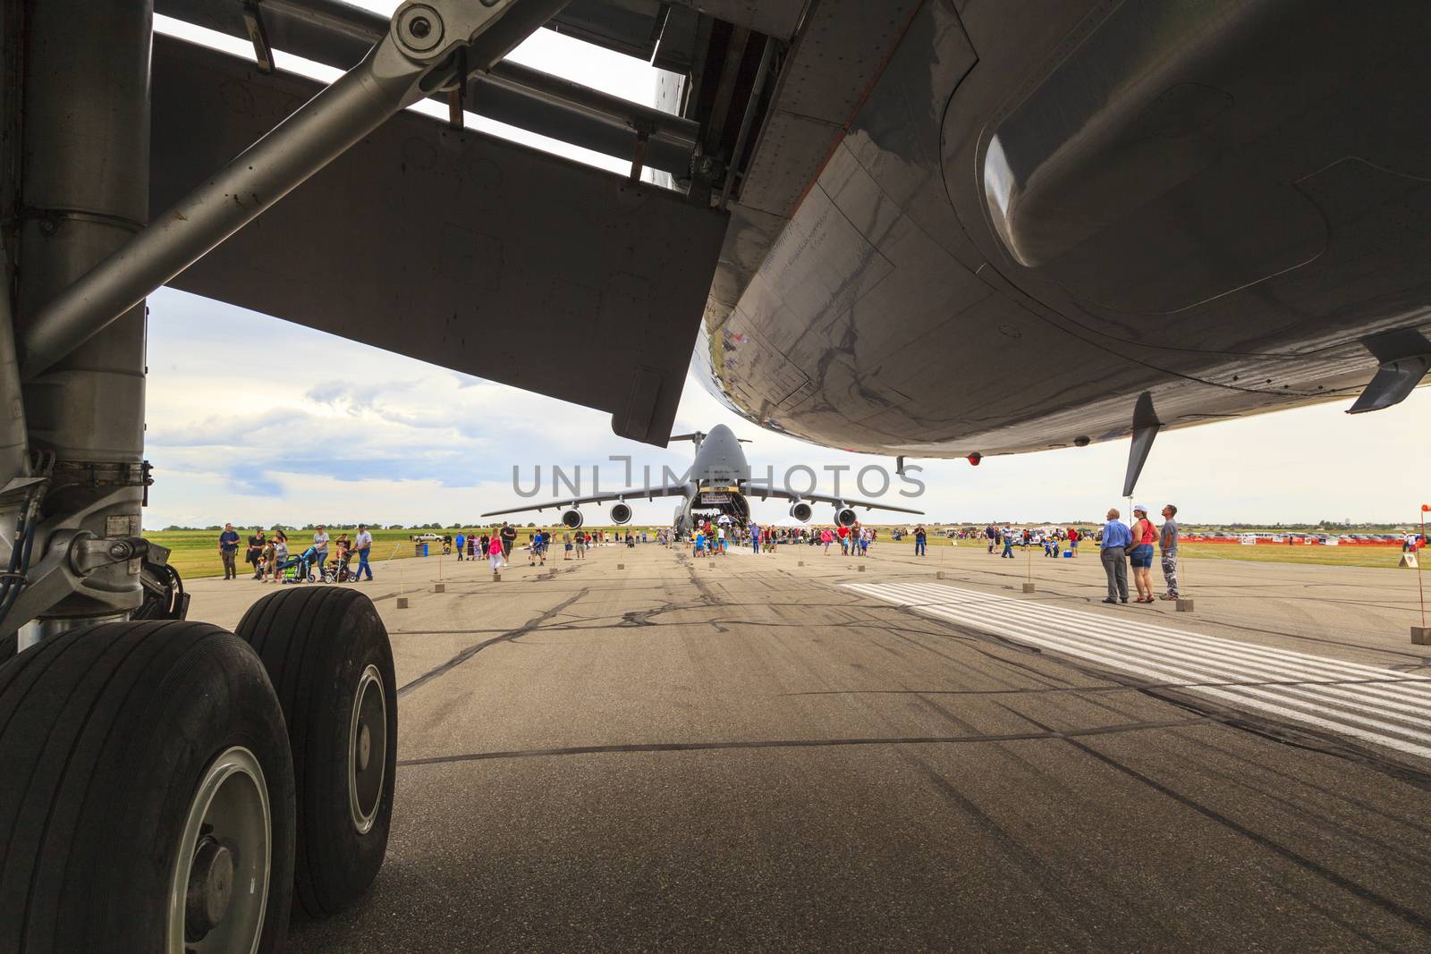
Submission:
M 149 4 L 54 0 L 24 4 L 24 17 L 10 47 L 23 57 L 23 83 L 17 96 L 4 97 L 7 109 L 19 110 L 6 127 L 20 130 L 20 182 L 6 183 L 19 186 L 17 220 L 4 223 L 16 242 L 6 249 L 16 279 L 6 293 L 14 293 L 17 343 L 46 302 L 132 237 L 149 207 Z M 110 318 L 116 320 L 103 333 L 23 380 L 29 446 L 52 462 L 127 468 L 143 459 L 143 303 L 130 300 Z M 30 628 L 34 638 L 137 606 L 137 559 L 96 571 L 82 588 L 57 586 L 44 601 L 33 598 L 43 589 L 36 579 L 66 558 L 63 548 L 49 545 L 52 531 L 64 525 L 96 538 L 137 535 L 142 502 L 140 485 L 50 486 L 43 519 L 27 531 L 34 564 L 19 595 L 10 591 L 6 629 L 34 616 L 63 618 Z M 62 578 L 73 582 L 50 576 Z

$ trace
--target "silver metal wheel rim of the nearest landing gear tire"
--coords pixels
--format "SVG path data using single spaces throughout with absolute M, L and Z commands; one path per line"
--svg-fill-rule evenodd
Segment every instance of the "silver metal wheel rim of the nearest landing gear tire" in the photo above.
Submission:
M 189 801 L 169 881 L 166 954 L 252 954 L 268 910 L 272 827 L 268 782 L 235 745 Z

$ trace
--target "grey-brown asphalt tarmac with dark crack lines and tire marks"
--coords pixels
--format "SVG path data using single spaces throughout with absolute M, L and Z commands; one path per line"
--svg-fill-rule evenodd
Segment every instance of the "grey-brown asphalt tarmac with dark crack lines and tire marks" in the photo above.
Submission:
M 1431 950 L 1410 571 L 1195 561 L 1179 614 L 1096 554 L 517 558 L 361 584 L 392 840 L 289 950 Z

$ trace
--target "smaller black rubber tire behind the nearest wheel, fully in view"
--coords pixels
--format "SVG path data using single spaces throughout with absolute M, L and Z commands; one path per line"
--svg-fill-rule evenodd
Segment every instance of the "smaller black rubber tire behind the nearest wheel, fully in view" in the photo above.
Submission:
M 388 629 L 362 592 L 321 585 L 269 594 L 243 614 L 236 634 L 268 667 L 288 721 L 298 782 L 298 900 L 315 918 L 336 914 L 368 890 L 388 851 L 398 771 L 398 685 Z M 353 695 L 368 665 L 381 677 L 388 744 L 376 818 L 359 834 L 349 812 L 348 741 Z

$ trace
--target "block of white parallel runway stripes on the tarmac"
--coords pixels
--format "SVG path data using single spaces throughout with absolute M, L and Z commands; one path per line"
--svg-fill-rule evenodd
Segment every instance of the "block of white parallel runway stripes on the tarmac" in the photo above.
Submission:
M 1188 692 L 1431 758 L 1431 679 L 1153 622 L 940 584 L 844 584 L 866 596 Z M 1228 684 L 1232 685 L 1228 685 Z M 1212 684 L 1212 685 L 1206 685 Z

